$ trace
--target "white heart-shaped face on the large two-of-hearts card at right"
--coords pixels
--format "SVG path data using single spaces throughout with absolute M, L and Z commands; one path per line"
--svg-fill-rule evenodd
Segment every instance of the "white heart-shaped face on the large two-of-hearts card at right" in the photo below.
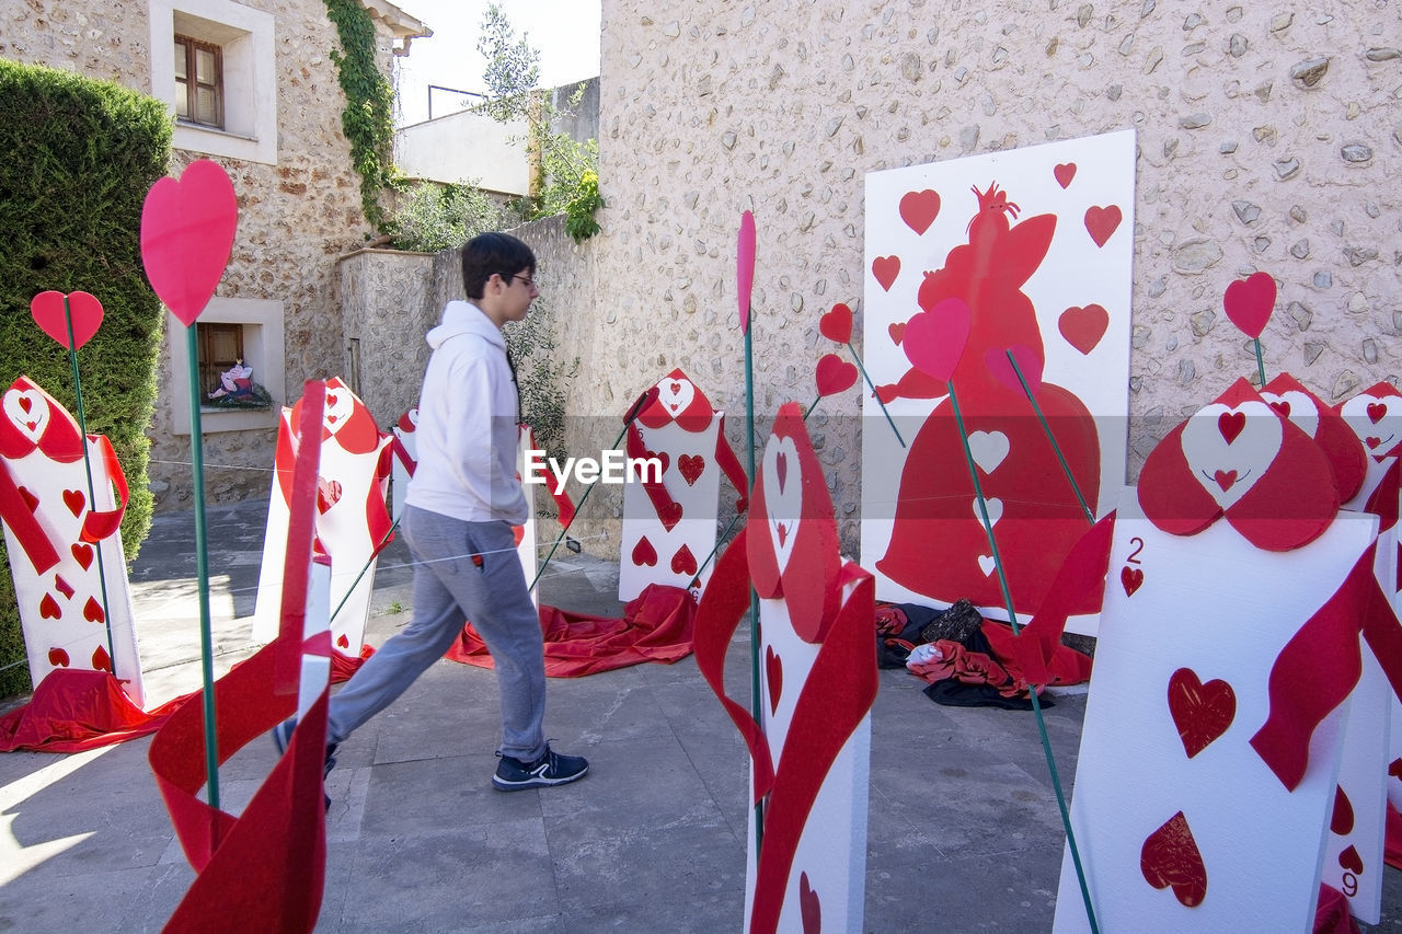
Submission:
M 1280 452 L 1284 425 L 1266 402 L 1206 405 L 1183 425 L 1179 443 L 1193 478 L 1224 510 L 1246 495 Z

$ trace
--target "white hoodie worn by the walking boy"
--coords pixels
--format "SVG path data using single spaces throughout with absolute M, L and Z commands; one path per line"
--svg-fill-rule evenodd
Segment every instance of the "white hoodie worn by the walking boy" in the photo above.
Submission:
M 449 302 L 428 332 L 419 391 L 419 463 L 405 502 L 464 522 L 527 519 L 516 478 L 516 386 L 506 341 L 471 302 Z

